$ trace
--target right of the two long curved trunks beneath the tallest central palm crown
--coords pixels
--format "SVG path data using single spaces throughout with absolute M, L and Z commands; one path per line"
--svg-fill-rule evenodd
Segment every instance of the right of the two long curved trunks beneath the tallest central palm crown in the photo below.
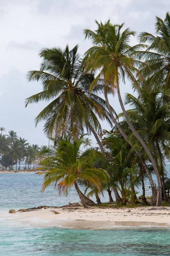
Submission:
M 154 158 L 153 158 L 149 148 L 147 148 L 147 145 L 144 143 L 144 140 L 137 133 L 137 131 L 133 127 L 132 123 L 130 122 L 130 119 L 127 116 L 127 113 L 126 113 L 126 110 L 125 110 L 125 107 L 123 105 L 122 98 L 121 98 L 121 95 L 120 95 L 119 82 L 117 82 L 117 93 L 118 93 L 118 98 L 119 98 L 120 106 L 122 108 L 122 111 L 123 111 L 123 114 L 125 116 L 126 122 L 129 125 L 129 127 L 130 127 L 130 130 L 133 132 L 133 134 L 135 135 L 136 139 L 139 140 L 139 142 L 142 144 L 144 150 L 146 151 L 148 157 L 150 158 L 151 163 L 153 164 L 153 168 L 155 170 L 156 177 L 157 177 L 157 180 L 158 180 L 158 192 L 159 192 L 157 194 L 157 197 L 159 197 L 159 198 L 157 198 L 156 206 L 161 206 L 161 179 L 160 179 L 160 176 L 159 176 L 158 168 L 156 166 L 155 160 L 154 160 Z

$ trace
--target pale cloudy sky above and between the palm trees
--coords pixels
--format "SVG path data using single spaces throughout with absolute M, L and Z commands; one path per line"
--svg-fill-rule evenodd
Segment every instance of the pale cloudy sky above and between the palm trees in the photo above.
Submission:
M 95 29 L 95 19 L 154 33 L 155 16 L 164 19 L 168 8 L 169 0 L 0 0 L 0 126 L 30 143 L 47 144 L 43 123 L 34 125 L 45 104 L 24 106 L 28 96 L 41 90 L 41 84 L 26 81 L 27 71 L 39 68 L 40 49 L 79 43 L 83 54 L 90 43 L 82 30 Z M 121 87 L 122 93 L 130 90 L 128 83 Z M 121 111 L 116 97 L 111 104 Z M 104 128 L 109 129 L 106 123 Z

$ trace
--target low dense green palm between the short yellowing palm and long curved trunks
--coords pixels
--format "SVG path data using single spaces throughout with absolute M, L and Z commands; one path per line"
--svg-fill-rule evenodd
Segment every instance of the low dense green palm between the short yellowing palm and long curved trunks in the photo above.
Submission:
M 130 146 L 120 136 L 110 132 L 106 134 L 105 144 L 110 154 L 110 164 L 106 169 L 110 175 L 109 184 L 114 184 L 119 189 L 122 204 L 126 204 L 129 195 L 132 202 L 135 201 L 137 198 L 134 184 L 139 175 L 135 152 L 130 151 Z

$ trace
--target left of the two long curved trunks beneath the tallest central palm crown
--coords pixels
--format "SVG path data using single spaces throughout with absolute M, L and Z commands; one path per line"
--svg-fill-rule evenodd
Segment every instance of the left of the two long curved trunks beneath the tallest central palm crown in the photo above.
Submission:
M 125 133 L 125 131 L 123 131 L 122 127 L 119 125 L 119 123 L 116 121 L 115 117 L 113 116 L 113 112 L 112 112 L 111 105 L 110 105 L 109 100 L 108 100 L 108 95 L 107 95 L 106 88 L 104 87 L 104 89 L 105 89 L 106 105 L 107 105 L 108 111 L 109 111 L 109 113 L 110 113 L 110 115 L 111 115 L 111 119 L 112 119 L 113 123 L 116 125 L 116 127 L 117 127 L 117 129 L 119 130 L 120 134 L 122 134 L 122 136 L 124 137 L 124 139 L 127 141 L 127 143 L 129 143 L 129 145 L 130 145 L 131 147 L 133 147 L 133 143 L 131 143 L 131 142 L 127 139 L 127 134 Z M 156 196 L 157 196 L 157 195 L 156 195 L 156 189 L 155 189 L 155 185 L 154 185 L 154 182 L 153 182 L 152 175 L 150 174 L 150 171 L 149 171 L 149 169 L 147 168 L 147 165 L 146 165 L 146 163 L 145 163 L 145 160 L 142 159 L 142 156 L 141 156 L 140 152 L 139 152 L 136 148 L 134 148 L 134 151 L 135 151 L 136 154 L 138 154 L 138 156 L 140 157 L 141 163 L 142 163 L 142 165 L 143 165 L 143 167 L 144 167 L 144 170 L 145 170 L 145 172 L 146 172 L 146 174 L 147 174 L 147 177 L 148 177 L 148 179 L 149 179 L 150 186 L 151 186 L 151 189 L 152 189 L 152 204 L 153 204 L 153 206 L 155 206 L 155 205 L 156 205 Z

